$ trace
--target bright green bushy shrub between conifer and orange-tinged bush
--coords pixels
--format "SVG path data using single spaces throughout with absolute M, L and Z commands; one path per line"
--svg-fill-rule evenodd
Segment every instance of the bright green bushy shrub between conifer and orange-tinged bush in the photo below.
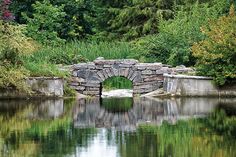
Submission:
M 171 65 L 195 64 L 191 46 L 204 39 L 200 27 L 209 19 L 216 19 L 229 6 L 227 1 L 216 1 L 214 5 L 196 3 L 191 6 L 180 6 L 174 19 L 162 20 L 159 33 L 146 36 L 134 42 L 140 56 L 151 61 L 159 61 Z

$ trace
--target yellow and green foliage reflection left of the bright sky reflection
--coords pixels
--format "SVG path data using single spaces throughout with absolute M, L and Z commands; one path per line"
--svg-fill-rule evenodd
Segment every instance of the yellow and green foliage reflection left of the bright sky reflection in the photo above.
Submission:
M 0 116 L 0 152 L 2 156 L 65 156 L 77 145 L 87 146 L 96 130 L 74 129 L 72 107 L 74 101 L 64 101 L 64 112 L 57 119 L 29 119 L 33 105 L 17 110 L 14 115 Z M 1 156 L 1 154 L 0 154 Z

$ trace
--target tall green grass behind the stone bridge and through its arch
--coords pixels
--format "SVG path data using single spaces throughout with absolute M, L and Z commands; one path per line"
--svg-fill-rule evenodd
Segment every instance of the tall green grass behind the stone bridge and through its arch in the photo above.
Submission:
M 128 42 L 72 41 L 61 46 L 44 46 L 30 56 L 22 58 L 24 67 L 31 76 L 65 76 L 56 64 L 70 65 L 93 61 L 97 57 L 105 59 L 132 58 L 136 50 Z M 132 83 L 124 78 L 108 79 L 106 89 L 132 88 Z

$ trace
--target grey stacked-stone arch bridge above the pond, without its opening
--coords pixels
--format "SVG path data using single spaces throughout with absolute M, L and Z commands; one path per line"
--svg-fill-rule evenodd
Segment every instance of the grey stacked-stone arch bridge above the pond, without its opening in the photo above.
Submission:
M 132 81 L 133 94 L 145 94 L 163 86 L 163 74 L 184 73 L 189 68 L 172 68 L 162 63 L 139 63 L 134 59 L 105 60 L 102 57 L 93 62 L 72 66 L 72 80 L 69 85 L 84 95 L 100 96 L 102 82 L 119 76 Z

